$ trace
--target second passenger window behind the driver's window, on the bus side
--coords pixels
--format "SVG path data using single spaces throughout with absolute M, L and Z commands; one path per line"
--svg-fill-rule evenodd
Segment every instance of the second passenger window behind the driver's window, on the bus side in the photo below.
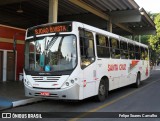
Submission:
M 119 59 L 120 58 L 120 49 L 119 49 L 119 40 L 115 38 L 110 38 L 110 46 L 111 46 L 111 57 Z

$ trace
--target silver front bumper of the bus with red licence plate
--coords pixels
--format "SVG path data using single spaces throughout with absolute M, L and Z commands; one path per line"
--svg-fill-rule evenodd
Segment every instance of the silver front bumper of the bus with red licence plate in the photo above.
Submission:
M 79 98 L 80 86 L 77 84 L 65 89 L 43 89 L 43 88 L 39 89 L 39 88 L 32 88 L 27 85 L 24 85 L 24 87 L 25 87 L 25 96 L 27 97 L 80 100 Z

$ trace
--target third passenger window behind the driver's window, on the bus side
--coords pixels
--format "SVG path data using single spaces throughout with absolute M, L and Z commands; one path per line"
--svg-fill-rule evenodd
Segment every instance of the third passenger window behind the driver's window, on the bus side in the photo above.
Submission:
M 120 41 L 121 59 L 128 59 L 128 45 L 127 42 Z

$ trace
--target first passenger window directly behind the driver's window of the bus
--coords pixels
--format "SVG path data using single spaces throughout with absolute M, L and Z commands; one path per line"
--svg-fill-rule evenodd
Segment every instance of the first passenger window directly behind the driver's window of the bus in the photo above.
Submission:
M 96 44 L 97 44 L 97 56 L 101 58 L 109 58 L 109 41 L 108 37 L 104 35 L 96 35 Z

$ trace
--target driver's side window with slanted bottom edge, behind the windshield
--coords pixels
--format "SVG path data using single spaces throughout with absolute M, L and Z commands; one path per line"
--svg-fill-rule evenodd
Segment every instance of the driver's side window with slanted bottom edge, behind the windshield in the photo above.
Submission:
M 89 66 L 95 60 L 93 33 L 84 29 L 79 29 L 81 68 Z

